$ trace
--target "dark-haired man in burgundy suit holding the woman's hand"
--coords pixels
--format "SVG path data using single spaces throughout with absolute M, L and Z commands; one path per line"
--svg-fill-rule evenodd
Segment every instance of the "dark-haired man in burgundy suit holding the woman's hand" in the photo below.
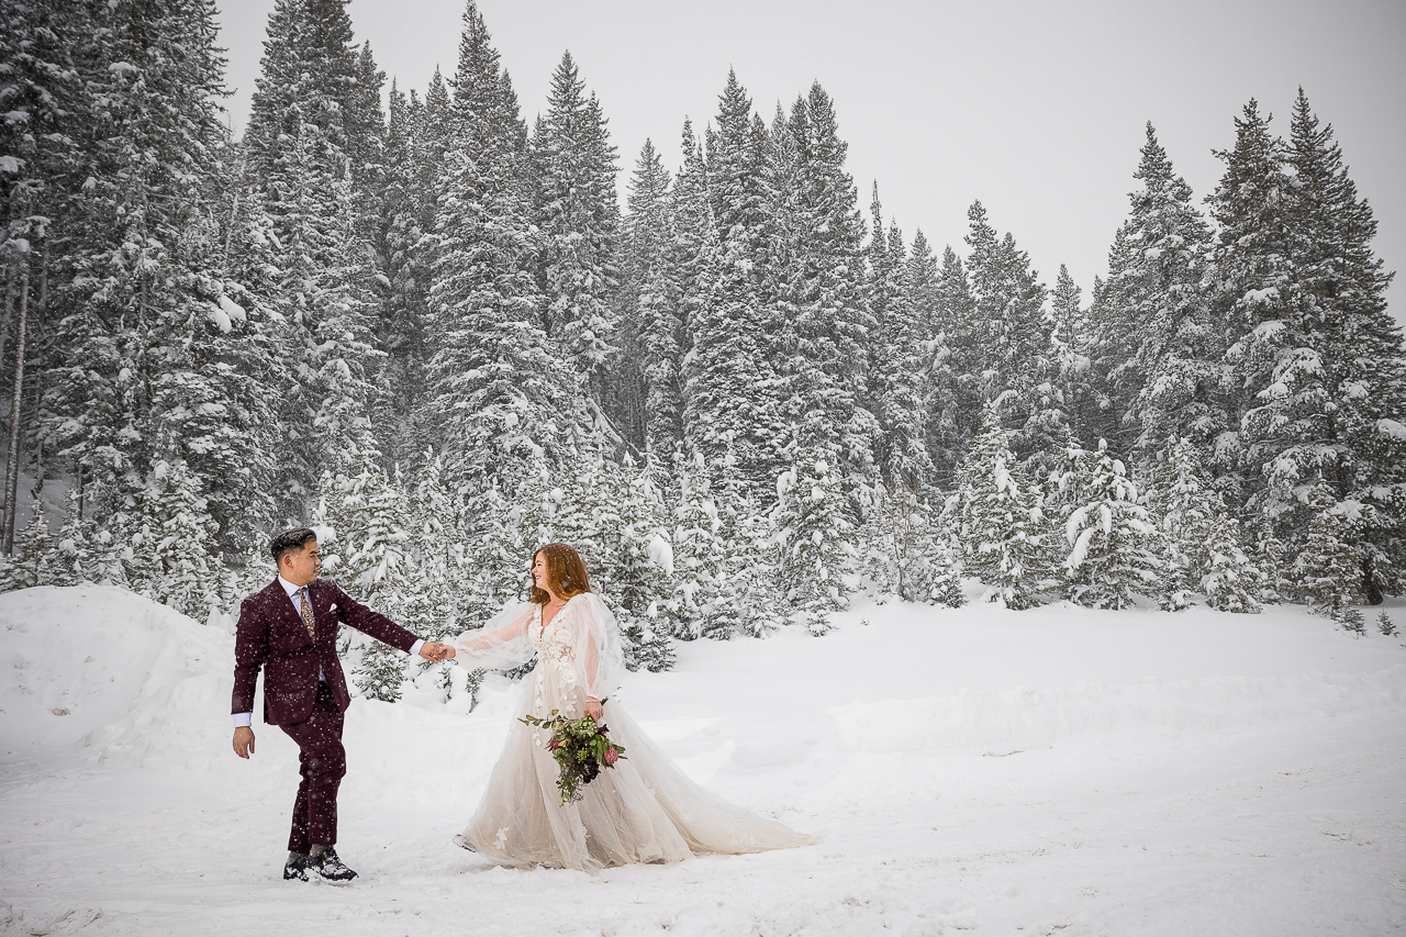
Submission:
M 337 851 L 337 788 L 346 774 L 342 719 L 352 696 L 337 660 L 337 625 L 426 660 L 444 660 L 449 646 L 415 635 L 318 580 L 322 554 L 311 528 L 284 530 L 269 542 L 278 578 L 245 599 L 235 636 L 235 754 L 254 750 L 254 684 L 264 673 L 264 722 L 298 743 L 302 784 L 292 806 L 288 862 L 283 877 L 350 882 L 356 872 Z

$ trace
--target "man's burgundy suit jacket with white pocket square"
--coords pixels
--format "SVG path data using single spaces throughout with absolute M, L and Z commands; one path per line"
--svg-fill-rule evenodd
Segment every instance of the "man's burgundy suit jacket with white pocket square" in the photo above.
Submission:
M 322 670 L 339 709 L 352 702 L 347 680 L 337 660 L 337 627 L 342 623 L 378 642 L 409 653 L 415 635 L 387 616 L 373 612 L 343 592 L 332 580 L 314 580 L 308 602 L 316 620 L 316 642 L 308 636 L 298 609 L 274 580 L 239 606 L 235 633 L 235 694 L 231 712 L 253 712 L 259 670 L 264 671 L 264 722 L 277 726 L 305 720 L 318 698 Z

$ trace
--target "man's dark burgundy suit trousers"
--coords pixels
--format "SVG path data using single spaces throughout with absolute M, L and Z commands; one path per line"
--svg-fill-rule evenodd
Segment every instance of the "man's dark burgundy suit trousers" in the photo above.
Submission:
M 342 747 L 343 713 L 326 682 L 318 682 L 318 698 L 302 722 L 278 726 L 298 743 L 298 799 L 292 805 L 290 853 L 308 853 L 309 847 L 337 843 L 337 788 L 347 772 L 347 753 Z

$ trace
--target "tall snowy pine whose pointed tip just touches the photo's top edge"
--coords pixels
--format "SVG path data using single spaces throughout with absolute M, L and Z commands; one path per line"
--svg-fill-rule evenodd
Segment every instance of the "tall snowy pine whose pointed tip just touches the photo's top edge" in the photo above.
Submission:
M 464 11 L 453 145 L 439 201 L 426 425 L 451 488 L 506 485 L 589 435 L 579 383 L 548 350 L 533 279 L 536 235 L 520 184 L 517 98 L 477 6 Z

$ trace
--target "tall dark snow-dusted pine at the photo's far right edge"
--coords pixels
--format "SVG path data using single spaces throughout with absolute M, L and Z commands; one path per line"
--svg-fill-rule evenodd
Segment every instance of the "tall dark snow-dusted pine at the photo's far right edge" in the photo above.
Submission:
M 1361 512 L 1360 589 L 1376 604 L 1406 581 L 1406 348 L 1386 310 L 1392 274 L 1372 252 L 1376 221 L 1357 196 L 1333 128 L 1319 125 L 1302 89 L 1288 165 L 1294 318 L 1279 336 L 1274 384 L 1246 425 L 1260 450 L 1272 453 L 1271 516 L 1302 504 L 1302 480 L 1313 471 L 1331 478 L 1344 511 Z

